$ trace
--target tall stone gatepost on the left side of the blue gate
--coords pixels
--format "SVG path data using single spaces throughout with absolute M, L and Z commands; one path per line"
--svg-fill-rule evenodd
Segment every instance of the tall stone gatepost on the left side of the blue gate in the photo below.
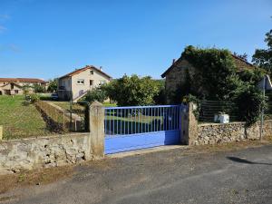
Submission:
M 104 157 L 104 109 L 102 103 L 92 102 L 90 105 L 90 145 L 94 159 Z

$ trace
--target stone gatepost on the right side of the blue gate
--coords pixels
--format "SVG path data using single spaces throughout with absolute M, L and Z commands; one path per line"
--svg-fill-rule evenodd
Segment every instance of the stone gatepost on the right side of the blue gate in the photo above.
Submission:
M 181 143 L 192 145 L 198 136 L 198 121 L 193 113 L 194 104 L 189 102 L 185 112 L 181 112 Z

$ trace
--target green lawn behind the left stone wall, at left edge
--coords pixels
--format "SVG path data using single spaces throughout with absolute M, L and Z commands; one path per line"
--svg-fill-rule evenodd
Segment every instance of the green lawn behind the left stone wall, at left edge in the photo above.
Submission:
M 34 105 L 24 104 L 24 96 L 0 96 L 0 125 L 4 126 L 4 140 L 51 133 Z

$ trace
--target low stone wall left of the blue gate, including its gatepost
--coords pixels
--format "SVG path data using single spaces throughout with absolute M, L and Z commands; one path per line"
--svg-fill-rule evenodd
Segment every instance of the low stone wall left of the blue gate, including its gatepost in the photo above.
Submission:
M 90 132 L 0 141 L 0 174 L 104 157 L 104 110 L 90 106 Z

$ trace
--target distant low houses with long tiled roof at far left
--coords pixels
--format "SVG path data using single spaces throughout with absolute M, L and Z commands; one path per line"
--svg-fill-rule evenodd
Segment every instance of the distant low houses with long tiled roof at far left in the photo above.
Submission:
M 33 92 L 33 86 L 41 85 L 46 88 L 47 82 L 34 78 L 0 78 L 0 95 L 22 95 L 24 88 Z

